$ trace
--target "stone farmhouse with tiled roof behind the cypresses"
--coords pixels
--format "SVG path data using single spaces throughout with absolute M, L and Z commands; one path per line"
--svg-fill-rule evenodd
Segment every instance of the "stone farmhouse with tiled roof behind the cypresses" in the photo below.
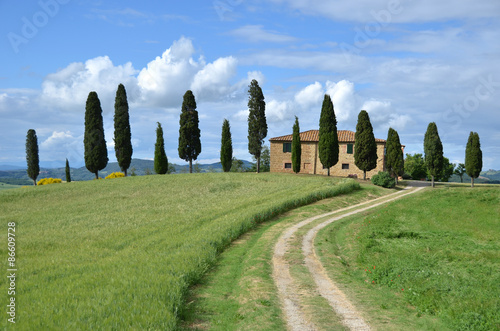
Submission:
M 354 135 L 355 132 L 338 130 L 339 161 L 330 168 L 330 175 L 340 177 L 363 178 L 363 171 L 354 164 Z M 293 173 L 292 170 L 292 135 L 269 139 L 271 143 L 271 172 Z M 319 130 L 309 130 L 300 133 L 302 146 L 301 174 L 326 175 L 328 169 L 323 168 L 318 155 Z M 385 144 L 383 139 L 375 138 L 377 143 L 377 167 L 366 173 L 367 178 L 385 171 Z

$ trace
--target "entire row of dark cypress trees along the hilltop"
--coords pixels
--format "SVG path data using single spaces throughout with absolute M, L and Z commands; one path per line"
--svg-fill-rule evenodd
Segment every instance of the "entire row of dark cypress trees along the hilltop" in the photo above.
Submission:
M 262 89 L 254 79 L 249 85 L 249 115 L 248 115 L 248 150 L 257 160 L 257 172 L 260 171 L 260 156 L 264 138 L 267 136 L 267 122 L 265 116 L 265 101 Z M 189 162 L 190 173 L 193 171 L 192 161 L 196 160 L 201 153 L 200 129 L 198 127 L 199 118 L 196 111 L 196 101 L 192 91 L 188 90 L 183 97 L 180 115 L 179 128 L 179 157 Z M 129 108 L 127 94 L 123 84 L 118 85 L 115 97 L 114 114 L 114 142 L 115 153 L 121 170 L 127 175 L 127 169 L 132 160 L 132 143 L 129 119 Z M 300 144 L 299 120 L 295 117 L 292 140 L 292 168 L 293 171 L 300 172 L 301 164 L 301 144 Z M 158 122 L 156 129 L 155 144 L 155 171 L 158 174 L 165 174 L 168 171 L 168 159 L 165 153 L 163 129 Z M 102 119 L 102 109 L 96 92 L 90 92 L 85 106 L 85 165 L 87 169 L 96 175 L 98 171 L 106 167 L 108 155 L 106 141 L 104 138 L 104 128 Z M 373 127 L 370 117 L 365 110 L 358 115 L 355 134 L 354 160 L 355 165 L 363 170 L 363 179 L 366 179 L 366 172 L 374 169 L 377 165 L 377 145 L 373 134 Z M 401 149 L 401 142 L 396 130 L 389 128 L 386 143 L 386 168 L 392 177 L 396 178 L 403 174 L 404 159 Z M 220 158 L 223 171 L 231 169 L 232 164 L 232 139 L 230 124 L 224 119 L 222 125 Z M 323 167 L 328 169 L 338 162 L 339 144 L 337 135 L 337 120 L 333 107 L 333 102 L 329 95 L 324 96 L 321 107 L 319 123 L 319 158 Z M 430 123 L 424 138 L 425 163 L 431 174 L 432 186 L 434 187 L 434 177 L 443 167 L 443 147 L 437 126 Z M 28 176 L 33 179 L 36 185 L 36 178 L 40 171 L 38 161 L 38 143 L 36 132 L 33 129 L 28 131 L 26 138 L 26 159 L 28 163 Z M 472 178 L 479 176 L 482 169 L 482 152 L 480 149 L 479 135 L 471 132 L 466 148 L 466 173 Z M 66 160 L 66 179 L 71 181 L 69 174 L 69 164 Z

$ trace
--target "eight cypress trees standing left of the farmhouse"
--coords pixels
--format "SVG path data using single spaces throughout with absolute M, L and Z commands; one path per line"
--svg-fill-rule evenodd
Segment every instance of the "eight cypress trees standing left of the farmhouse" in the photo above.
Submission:
M 264 138 L 267 136 L 267 121 L 265 116 L 266 103 L 264 94 L 257 80 L 252 80 L 249 85 L 249 115 L 248 115 L 248 150 L 256 159 L 256 171 L 260 172 L 261 155 L 263 152 Z M 201 153 L 201 132 L 199 118 L 196 110 L 196 100 L 191 90 L 183 96 L 179 120 L 179 157 L 189 163 L 189 172 L 193 172 L 193 160 Z M 156 143 L 154 153 L 154 170 L 157 174 L 168 173 L 168 158 L 165 153 L 163 129 L 157 122 Z M 127 94 L 123 84 L 118 85 L 115 97 L 114 114 L 114 146 L 115 154 L 120 169 L 127 176 L 127 170 L 132 161 L 132 142 Z M 224 119 L 221 135 L 221 164 L 224 172 L 231 170 L 233 165 L 241 167 L 233 158 L 233 148 L 230 124 Z M 85 105 L 85 133 L 84 133 L 84 159 L 85 167 L 95 178 L 99 178 L 99 171 L 108 164 L 108 151 L 104 136 L 102 108 L 99 97 L 95 91 L 88 95 Z M 28 130 L 26 137 L 26 161 L 28 176 L 36 185 L 36 178 L 40 173 L 38 158 L 38 141 L 34 129 Z M 71 181 L 69 162 L 66 159 L 66 180 Z

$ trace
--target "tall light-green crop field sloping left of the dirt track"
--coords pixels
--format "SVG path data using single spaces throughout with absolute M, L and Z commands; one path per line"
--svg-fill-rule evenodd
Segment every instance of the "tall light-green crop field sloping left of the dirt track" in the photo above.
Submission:
M 279 213 L 358 187 L 219 173 L 3 190 L 5 272 L 7 224 L 16 223 L 16 329 L 173 329 L 188 287 L 231 241 Z M 6 305 L 6 290 L 1 297 Z

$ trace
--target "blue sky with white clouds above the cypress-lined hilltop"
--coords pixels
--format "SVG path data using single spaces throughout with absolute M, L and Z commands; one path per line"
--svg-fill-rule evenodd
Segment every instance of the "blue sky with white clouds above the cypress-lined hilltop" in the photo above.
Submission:
M 177 154 L 182 96 L 200 114 L 200 163 L 219 161 L 222 121 L 247 151 L 248 84 L 266 98 L 267 138 L 317 129 L 325 93 L 339 129 L 361 109 L 422 153 L 436 122 L 451 162 L 478 132 L 483 169 L 500 169 L 500 2 L 217 0 L 0 2 L 0 164 L 24 165 L 28 129 L 42 164 L 83 166 L 85 101 L 97 91 L 110 161 L 113 102 L 126 87 L 134 158 L 154 155 L 162 123 Z M 267 141 L 266 141 L 267 143 Z

